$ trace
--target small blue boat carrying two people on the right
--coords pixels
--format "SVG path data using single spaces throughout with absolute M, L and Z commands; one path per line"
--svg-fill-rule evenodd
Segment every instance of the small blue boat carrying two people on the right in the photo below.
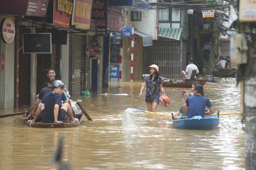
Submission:
M 172 120 L 172 119 L 171 119 Z M 172 120 L 173 126 L 178 129 L 216 129 L 220 123 L 220 118 L 216 115 L 214 116 L 195 116 L 192 119 L 179 119 Z

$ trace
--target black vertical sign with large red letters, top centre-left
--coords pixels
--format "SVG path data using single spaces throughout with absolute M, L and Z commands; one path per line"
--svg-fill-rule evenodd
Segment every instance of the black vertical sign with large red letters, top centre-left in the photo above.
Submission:
M 93 0 L 91 19 L 97 20 L 97 35 L 108 33 L 108 0 Z

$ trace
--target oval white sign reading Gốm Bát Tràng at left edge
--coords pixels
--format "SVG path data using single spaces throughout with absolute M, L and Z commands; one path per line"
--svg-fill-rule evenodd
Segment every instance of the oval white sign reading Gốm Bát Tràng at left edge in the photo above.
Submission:
M 1 22 L 1 38 L 4 43 L 12 43 L 15 37 L 15 26 L 10 18 L 4 18 Z

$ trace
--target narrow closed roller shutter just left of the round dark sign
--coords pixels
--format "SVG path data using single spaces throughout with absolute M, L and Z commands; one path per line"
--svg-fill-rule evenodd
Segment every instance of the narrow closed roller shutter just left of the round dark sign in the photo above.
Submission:
M 74 35 L 74 66 L 72 95 L 82 91 L 82 35 Z

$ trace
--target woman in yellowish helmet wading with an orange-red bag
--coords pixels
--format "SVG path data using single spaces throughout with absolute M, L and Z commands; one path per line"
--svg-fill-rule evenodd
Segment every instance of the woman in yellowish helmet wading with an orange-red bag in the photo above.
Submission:
M 163 80 L 159 77 L 159 68 L 156 64 L 152 64 L 150 67 L 150 76 L 146 77 L 144 84 L 141 87 L 139 97 L 141 98 L 143 90 L 146 88 L 145 102 L 147 104 L 148 111 L 156 112 L 159 104 L 159 98 L 161 90 L 164 94 Z

